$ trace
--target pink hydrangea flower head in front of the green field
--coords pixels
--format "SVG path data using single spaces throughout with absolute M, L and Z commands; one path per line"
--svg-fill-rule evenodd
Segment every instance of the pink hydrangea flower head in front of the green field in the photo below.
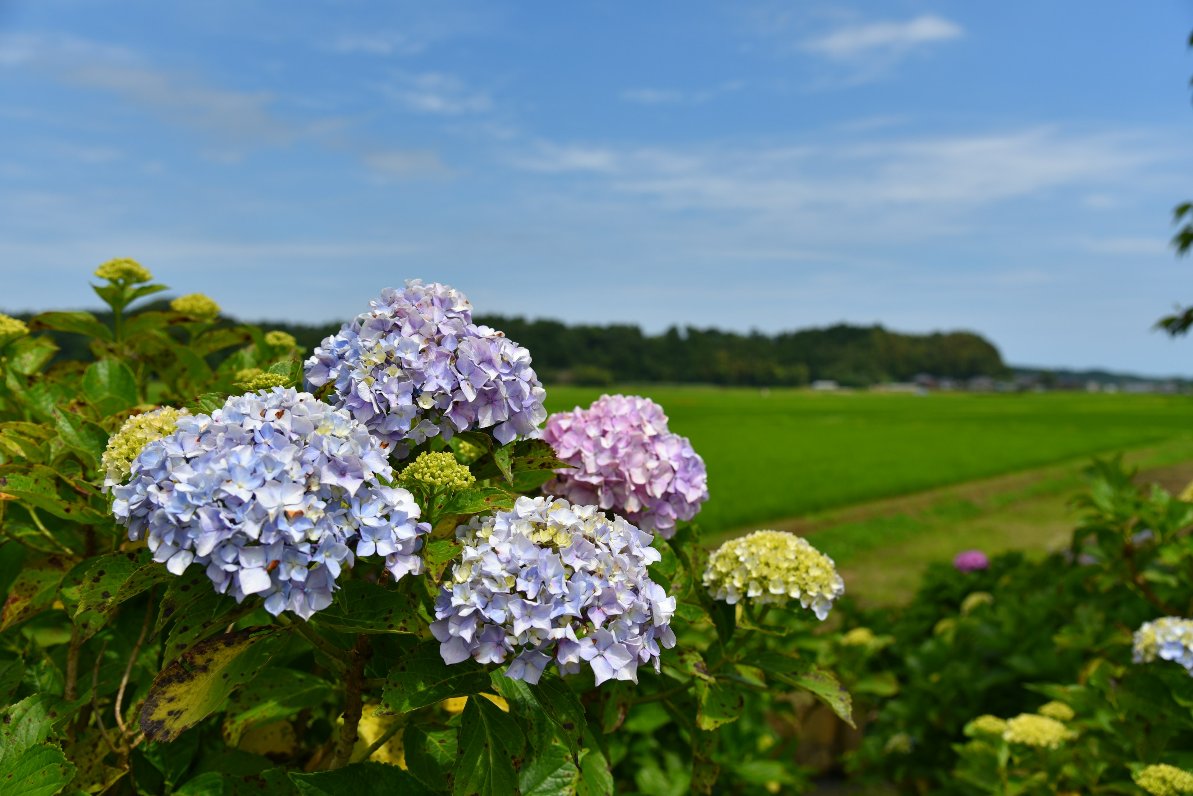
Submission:
M 704 459 L 687 437 L 667 430 L 650 399 L 602 395 L 587 409 L 552 414 L 543 439 L 574 470 L 557 470 L 544 492 L 612 510 L 663 538 L 709 499 Z

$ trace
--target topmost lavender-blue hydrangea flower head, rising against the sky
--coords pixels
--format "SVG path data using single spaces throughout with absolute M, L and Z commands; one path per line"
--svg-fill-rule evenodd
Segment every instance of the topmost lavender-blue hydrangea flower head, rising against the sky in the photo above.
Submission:
M 307 381 L 335 384 L 334 401 L 404 457 L 409 442 L 494 427 L 502 444 L 546 418 L 530 352 L 472 323 L 458 290 L 408 279 L 387 288 L 307 360 Z

